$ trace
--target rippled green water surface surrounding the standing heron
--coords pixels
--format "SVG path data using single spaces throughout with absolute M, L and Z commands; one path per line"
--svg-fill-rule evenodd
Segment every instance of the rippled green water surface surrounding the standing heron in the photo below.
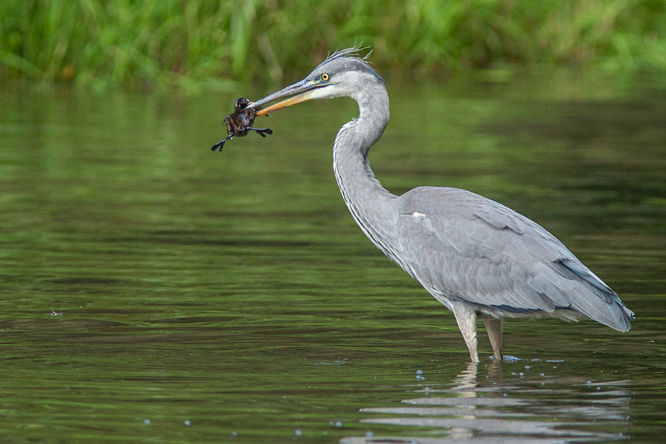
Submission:
M 272 114 L 272 136 L 220 153 L 232 100 L 268 91 L 6 87 L 0 441 L 661 442 L 666 89 L 391 84 L 370 156 L 384 186 L 467 188 L 536 220 L 636 312 L 631 332 L 509 320 L 522 360 L 492 363 L 481 331 L 468 368 L 452 315 L 342 202 L 350 99 Z

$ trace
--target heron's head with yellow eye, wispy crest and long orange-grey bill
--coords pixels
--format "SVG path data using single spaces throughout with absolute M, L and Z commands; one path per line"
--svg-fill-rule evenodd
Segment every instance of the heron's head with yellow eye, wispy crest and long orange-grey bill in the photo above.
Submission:
M 370 86 L 384 87 L 385 82 L 366 62 L 366 57 L 358 57 L 358 47 L 343 49 L 326 58 L 318 67 L 300 82 L 294 83 L 277 93 L 273 93 L 249 105 L 260 107 L 272 101 L 281 100 L 256 113 L 264 116 L 270 112 L 296 105 L 312 99 L 332 97 L 352 97 L 362 99 Z M 284 100 L 282 100 L 284 99 Z

